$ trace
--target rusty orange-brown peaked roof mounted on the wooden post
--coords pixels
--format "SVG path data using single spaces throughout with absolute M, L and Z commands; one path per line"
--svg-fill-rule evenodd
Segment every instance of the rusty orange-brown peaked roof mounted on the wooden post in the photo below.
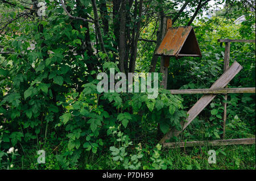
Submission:
M 193 27 L 168 28 L 155 54 L 159 56 L 201 57 L 201 51 Z

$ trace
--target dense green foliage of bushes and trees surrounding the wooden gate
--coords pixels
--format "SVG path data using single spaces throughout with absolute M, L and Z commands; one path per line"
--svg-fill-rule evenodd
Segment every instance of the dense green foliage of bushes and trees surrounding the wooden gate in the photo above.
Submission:
M 38 3 L 26 2 L 32 7 Z M 195 15 L 209 10 L 208 1 L 187 2 Z M 174 26 L 187 25 L 193 18 L 187 11 L 179 12 L 183 1 L 64 2 L 73 16 L 95 23 L 72 19 L 58 1 L 46 3 L 45 16 L 26 3 L 0 5 L 1 21 L 7 22 L 1 27 L 0 45 L 3 52 L 11 52 L 0 54 L 1 169 L 255 169 L 255 145 L 234 147 L 237 151 L 229 151 L 232 146 L 215 148 L 219 157 L 214 166 L 202 159 L 207 158 L 208 146 L 183 151 L 157 145 L 170 128 L 181 129 L 180 121 L 201 95 L 172 95 L 160 85 L 156 99 L 148 99 L 149 92 L 96 89 L 97 75 L 109 74 L 110 68 L 126 74 L 151 71 L 163 16 L 176 18 Z M 233 6 L 240 5 L 236 3 Z M 217 39 L 255 39 L 255 9 L 252 13 L 244 6 L 238 11 L 246 15 L 238 24 L 223 11 L 192 19 L 203 57 L 171 58 L 167 89 L 209 88 L 223 73 L 225 45 Z M 139 37 L 158 40 L 155 44 Z M 230 64 L 234 61 L 243 69 L 229 87 L 255 87 L 255 44 L 232 43 Z M 160 66 L 158 58 L 156 72 Z M 219 139 L 222 102 L 223 95 L 218 95 L 170 141 Z M 229 94 L 227 103 L 226 138 L 254 137 L 255 94 Z M 45 164 L 37 162 L 38 150 L 46 151 Z

